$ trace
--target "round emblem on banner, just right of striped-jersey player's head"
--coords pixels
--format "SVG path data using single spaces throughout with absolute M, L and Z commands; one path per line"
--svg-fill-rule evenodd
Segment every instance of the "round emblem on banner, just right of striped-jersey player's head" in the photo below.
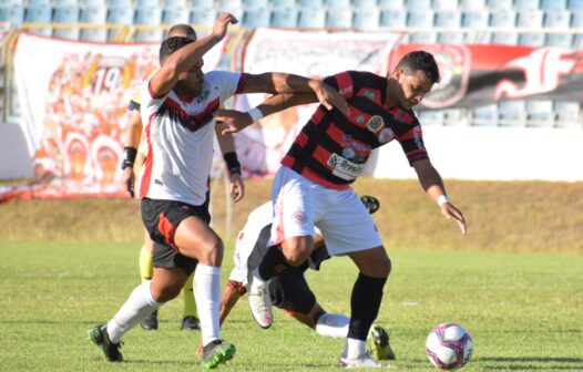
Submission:
M 456 104 L 468 91 L 470 80 L 470 50 L 466 45 L 427 44 L 439 66 L 441 81 L 421 102 L 426 107 L 443 108 Z

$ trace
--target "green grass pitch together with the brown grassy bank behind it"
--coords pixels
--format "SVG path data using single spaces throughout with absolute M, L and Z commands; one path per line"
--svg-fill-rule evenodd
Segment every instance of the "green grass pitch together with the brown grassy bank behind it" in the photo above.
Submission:
M 425 339 L 441 322 L 472 334 L 463 371 L 583 371 L 583 184 L 447 183 L 468 221 L 462 237 L 415 180 L 359 179 L 379 197 L 377 226 L 392 258 L 378 322 L 407 371 L 430 371 Z M 214 226 L 233 237 L 268 198 L 269 182 L 225 219 L 224 188 L 213 188 Z M 200 370 L 198 332 L 180 331 L 182 299 L 161 310 L 161 328 L 124 338 L 126 362 L 109 364 L 86 341 L 139 282 L 142 225 L 131 200 L 25 200 L 0 205 L 0 371 Z M 335 258 L 308 280 L 324 308 L 349 312 L 354 265 Z M 342 341 L 318 337 L 280 311 L 255 326 L 246 299 L 223 335 L 237 345 L 224 371 L 337 371 Z

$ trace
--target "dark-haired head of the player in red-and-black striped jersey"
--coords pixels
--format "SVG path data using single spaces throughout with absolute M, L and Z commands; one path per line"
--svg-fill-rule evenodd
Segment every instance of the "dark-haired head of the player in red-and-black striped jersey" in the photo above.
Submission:
M 397 83 L 393 84 L 392 93 L 398 104 L 407 110 L 419 104 L 440 79 L 436 59 L 426 51 L 407 53 L 390 78 Z

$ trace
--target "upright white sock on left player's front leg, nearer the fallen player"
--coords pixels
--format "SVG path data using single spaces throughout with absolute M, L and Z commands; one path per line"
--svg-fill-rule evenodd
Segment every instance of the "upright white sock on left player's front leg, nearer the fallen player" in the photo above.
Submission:
M 198 264 L 194 271 L 194 298 L 201 320 L 203 345 L 221 339 L 218 304 L 221 302 L 221 268 Z

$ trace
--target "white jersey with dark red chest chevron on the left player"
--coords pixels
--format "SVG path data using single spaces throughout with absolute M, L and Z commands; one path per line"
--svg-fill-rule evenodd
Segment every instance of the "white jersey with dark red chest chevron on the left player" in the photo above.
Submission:
M 142 167 L 140 197 L 202 205 L 208 190 L 215 120 L 221 103 L 239 93 L 245 74 L 212 71 L 192 101 L 171 91 L 153 97 L 142 85 L 141 116 L 149 156 Z

